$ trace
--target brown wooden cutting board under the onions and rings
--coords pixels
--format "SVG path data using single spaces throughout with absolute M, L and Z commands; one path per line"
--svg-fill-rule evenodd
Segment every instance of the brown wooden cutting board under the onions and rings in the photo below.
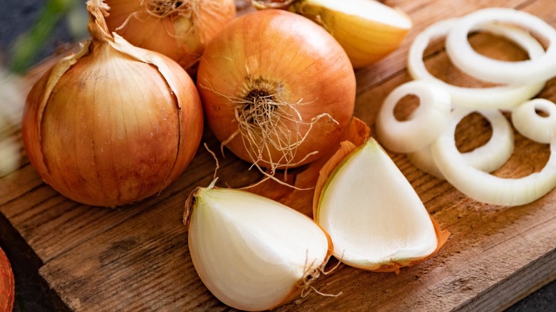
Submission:
M 356 117 L 374 129 L 383 99 L 411 78 L 406 71 L 413 38 L 441 19 L 483 7 L 512 7 L 556 26 L 552 0 L 383 1 L 413 19 L 413 29 L 398 51 L 356 71 Z M 237 1 L 243 14 L 248 1 Z M 490 56 L 522 59 L 510 43 L 483 34 L 470 37 Z M 436 76 L 457 85 L 481 86 L 448 61 L 443 42 L 431 44 L 426 65 Z M 555 80 L 538 97 L 556 101 Z M 411 109 L 401 103 L 399 113 Z M 23 108 L 23 103 L 19 110 Z M 19 125 L 11 129 L 21 145 Z M 490 127 L 478 116 L 458 127 L 458 147 L 470 150 L 488 140 Z M 209 130 L 202 142 L 219 143 Z M 0 212 L 43 261 L 40 274 L 75 311 L 228 311 L 195 273 L 182 224 L 185 199 L 212 180 L 215 160 L 200 148 L 180 178 L 157 197 L 119 209 L 72 202 L 41 182 L 24 155 L 15 172 L 0 178 Z M 480 204 L 451 184 L 426 175 L 405 155 L 390 154 L 415 187 L 428 211 L 452 233 L 431 259 L 399 274 L 379 274 L 340 265 L 314 286 L 328 297 L 309 296 L 277 311 L 501 311 L 556 279 L 556 191 L 520 207 Z M 539 171 L 549 150 L 516 133 L 515 154 L 496 175 L 522 177 Z M 229 152 L 220 159 L 220 185 L 242 187 L 260 176 Z

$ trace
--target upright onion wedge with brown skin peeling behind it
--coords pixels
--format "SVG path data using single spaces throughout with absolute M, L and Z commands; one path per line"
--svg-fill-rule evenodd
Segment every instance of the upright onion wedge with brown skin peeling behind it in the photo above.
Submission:
M 376 140 L 343 142 L 315 192 L 316 222 L 334 256 L 369 271 L 396 271 L 428 259 L 448 239 Z

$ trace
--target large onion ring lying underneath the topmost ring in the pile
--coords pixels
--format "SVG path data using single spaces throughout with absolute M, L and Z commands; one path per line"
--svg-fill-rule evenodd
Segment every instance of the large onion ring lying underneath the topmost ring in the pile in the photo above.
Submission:
M 457 19 L 439 21 L 419 33 L 413 40 L 408 56 L 408 71 L 413 79 L 423 79 L 441 85 L 452 96 L 453 105 L 461 105 L 468 108 L 513 108 L 529 100 L 544 88 L 545 81 L 527 83 L 525 85 L 503 85 L 492 88 L 464 88 L 451 85 L 431 75 L 423 62 L 423 53 L 433 39 L 446 36 L 456 21 Z M 532 59 L 545 53 L 537 39 L 520 28 L 486 24 L 478 27 L 477 30 L 492 33 L 495 36 L 501 36 L 513 41 L 525 49 Z

